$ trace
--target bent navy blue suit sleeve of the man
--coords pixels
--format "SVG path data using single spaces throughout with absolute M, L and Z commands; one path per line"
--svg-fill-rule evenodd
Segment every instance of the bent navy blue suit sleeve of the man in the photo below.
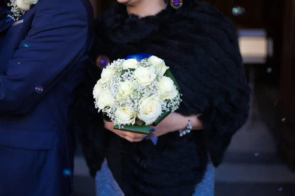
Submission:
M 29 112 L 87 58 L 88 17 L 77 2 L 48 3 L 36 12 L 28 36 L 0 74 L 0 114 Z

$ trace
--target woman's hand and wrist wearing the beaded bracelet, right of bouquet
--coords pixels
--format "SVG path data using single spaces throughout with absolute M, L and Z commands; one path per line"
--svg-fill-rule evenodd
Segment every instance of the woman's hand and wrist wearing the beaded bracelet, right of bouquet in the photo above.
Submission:
M 179 131 L 185 128 L 188 124 L 188 120 L 191 120 L 193 130 L 203 129 L 203 123 L 198 119 L 198 115 L 194 116 L 182 116 L 176 112 L 169 114 L 161 123 L 156 127 L 151 126 L 151 137 L 159 137 L 170 132 Z

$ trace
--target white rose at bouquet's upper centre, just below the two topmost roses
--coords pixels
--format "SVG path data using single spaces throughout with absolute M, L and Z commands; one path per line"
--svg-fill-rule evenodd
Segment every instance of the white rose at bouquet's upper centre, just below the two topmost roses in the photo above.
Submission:
M 154 67 L 139 67 L 134 71 L 134 78 L 142 85 L 150 85 L 156 78 Z

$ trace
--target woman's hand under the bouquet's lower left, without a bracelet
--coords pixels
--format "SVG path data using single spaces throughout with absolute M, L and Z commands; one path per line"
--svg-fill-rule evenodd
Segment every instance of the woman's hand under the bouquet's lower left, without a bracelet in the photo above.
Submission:
M 132 133 L 129 131 L 121 131 L 118 129 L 114 129 L 114 123 L 112 122 L 106 122 L 104 121 L 104 127 L 113 133 L 117 134 L 121 138 L 124 138 L 128 140 L 129 142 L 140 142 L 144 139 L 145 136 L 144 134 L 139 134 L 139 133 Z

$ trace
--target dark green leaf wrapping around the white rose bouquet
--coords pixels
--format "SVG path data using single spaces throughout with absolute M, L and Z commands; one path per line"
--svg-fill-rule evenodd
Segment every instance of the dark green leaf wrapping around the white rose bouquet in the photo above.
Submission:
M 130 70 L 135 70 L 135 69 L 130 69 Z M 126 70 L 128 71 L 128 70 Z M 123 71 L 123 72 L 126 72 Z M 170 70 L 168 69 L 165 73 L 164 76 L 166 77 L 170 77 L 178 92 L 181 94 L 181 89 L 177 84 L 177 81 L 175 79 L 175 77 L 173 76 L 173 74 L 170 72 Z M 157 126 L 159 123 L 161 123 L 171 112 L 164 112 L 154 123 L 152 123 L 152 126 Z M 111 119 L 107 116 L 106 113 L 103 113 L 103 118 L 106 122 L 112 122 Z M 124 125 L 124 128 L 119 128 L 118 125 L 114 126 L 114 129 L 118 129 L 118 130 L 122 130 L 122 131 L 129 131 L 129 132 L 133 132 L 133 133 L 140 133 L 140 134 L 145 134 L 145 135 L 149 135 L 150 133 L 150 128 L 148 125 L 146 125 L 145 123 L 143 125 L 138 125 L 138 124 L 134 124 L 134 125 Z

